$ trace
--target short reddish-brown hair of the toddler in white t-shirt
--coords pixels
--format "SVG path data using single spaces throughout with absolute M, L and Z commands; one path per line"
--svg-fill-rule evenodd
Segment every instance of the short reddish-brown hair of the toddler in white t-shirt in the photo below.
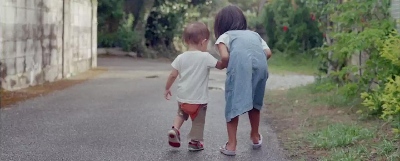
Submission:
M 183 42 L 188 44 L 198 44 L 204 39 L 210 39 L 210 30 L 207 25 L 201 22 L 188 24 L 183 30 Z

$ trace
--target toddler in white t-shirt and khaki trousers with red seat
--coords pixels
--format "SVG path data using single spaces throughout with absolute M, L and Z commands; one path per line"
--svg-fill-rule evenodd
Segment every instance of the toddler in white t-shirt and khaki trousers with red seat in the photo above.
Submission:
M 172 147 L 180 147 L 179 129 L 189 116 L 192 119 L 192 129 L 189 151 L 204 149 L 200 143 L 203 141 L 204 122 L 206 119 L 208 96 L 208 77 L 210 68 L 224 69 L 210 53 L 205 52 L 210 39 L 210 31 L 204 23 L 191 23 L 183 31 L 183 41 L 188 45 L 188 51 L 178 55 L 168 77 L 164 97 L 167 100 L 171 95 L 170 87 L 179 76 L 178 81 L 178 114 L 174 119 L 174 126 L 168 132 L 168 143 Z

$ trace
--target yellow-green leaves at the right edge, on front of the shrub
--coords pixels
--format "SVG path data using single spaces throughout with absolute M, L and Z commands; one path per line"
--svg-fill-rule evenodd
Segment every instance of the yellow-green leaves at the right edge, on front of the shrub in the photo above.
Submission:
M 380 118 L 393 119 L 400 113 L 400 37 L 390 34 L 382 44 L 380 57 L 383 59 L 378 66 L 376 81 L 378 87 L 370 92 L 362 93 L 363 105 L 369 111 L 378 112 Z

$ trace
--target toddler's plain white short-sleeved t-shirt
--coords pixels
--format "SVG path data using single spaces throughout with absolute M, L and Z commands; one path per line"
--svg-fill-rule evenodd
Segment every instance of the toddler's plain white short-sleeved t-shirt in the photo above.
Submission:
M 180 103 L 206 104 L 210 68 L 215 68 L 218 60 L 208 52 L 187 51 L 175 58 L 172 67 L 178 70 L 178 94 Z

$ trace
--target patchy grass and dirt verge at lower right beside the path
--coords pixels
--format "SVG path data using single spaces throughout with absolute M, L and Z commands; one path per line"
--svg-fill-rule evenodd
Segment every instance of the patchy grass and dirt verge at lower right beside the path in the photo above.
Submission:
M 400 116 L 385 123 L 356 114 L 360 99 L 345 99 L 313 83 L 266 94 L 266 113 L 292 160 L 400 161 Z M 268 101 L 270 100 L 270 101 Z M 360 119 L 362 118 L 362 119 Z M 287 130 L 290 129 L 290 130 Z

